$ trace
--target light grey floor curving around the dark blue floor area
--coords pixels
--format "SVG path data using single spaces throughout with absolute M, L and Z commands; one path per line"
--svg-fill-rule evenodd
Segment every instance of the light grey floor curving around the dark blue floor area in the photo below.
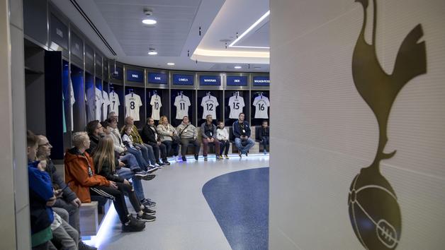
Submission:
M 157 220 L 147 222 L 142 232 L 122 233 L 117 215 L 108 216 L 108 226 L 101 228 L 91 244 L 99 249 L 230 249 L 220 225 L 202 194 L 203 185 L 221 174 L 242 169 L 269 167 L 269 156 L 230 155 L 216 161 L 193 157 L 188 162 L 172 163 L 159 169 L 152 181 L 144 181 L 145 196 L 157 202 Z M 134 213 L 134 212 L 133 212 Z

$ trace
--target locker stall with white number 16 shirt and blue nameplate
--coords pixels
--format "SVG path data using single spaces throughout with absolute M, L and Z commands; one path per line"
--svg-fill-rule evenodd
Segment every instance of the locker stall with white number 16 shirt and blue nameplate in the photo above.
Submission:
M 250 126 L 261 126 L 264 120 L 269 121 L 270 79 L 268 73 L 252 74 Z M 270 124 L 270 123 L 269 123 Z

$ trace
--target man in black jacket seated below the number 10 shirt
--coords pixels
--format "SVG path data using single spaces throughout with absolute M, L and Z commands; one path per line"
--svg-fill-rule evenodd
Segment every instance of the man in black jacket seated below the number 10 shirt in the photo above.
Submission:
M 152 117 L 147 119 L 147 124 L 145 124 L 142 129 L 140 136 L 144 143 L 152 146 L 157 164 L 160 163 L 159 157 L 161 157 L 164 165 L 170 165 L 170 162 L 167 160 L 167 148 L 161 143 L 161 140 L 157 135 L 156 126 L 154 126 L 154 119 Z

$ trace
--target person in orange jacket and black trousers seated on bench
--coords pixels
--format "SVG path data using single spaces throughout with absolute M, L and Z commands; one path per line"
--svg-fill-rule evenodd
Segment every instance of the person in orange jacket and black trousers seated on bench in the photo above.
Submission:
M 89 137 L 86 132 L 73 134 L 74 148 L 65 153 L 65 181 L 77 194 L 83 203 L 91 202 L 91 194 L 103 196 L 113 200 L 116 212 L 122 222 L 124 232 L 137 232 L 145 228 L 145 222 L 136 220 L 128 213 L 123 192 L 118 190 L 114 181 L 108 181 L 105 177 L 94 172 L 93 159 L 85 152 L 89 148 Z

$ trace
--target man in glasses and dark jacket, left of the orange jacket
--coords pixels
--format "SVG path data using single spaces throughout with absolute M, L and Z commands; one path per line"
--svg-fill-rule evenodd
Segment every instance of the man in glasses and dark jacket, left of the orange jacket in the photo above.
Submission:
M 55 189 L 63 189 L 63 194 L 60 198 L 57 198 L 54 207 L 63 208 L 69 213 L 69 225 L 74 227 L 80 236 L 80 225 L 79 225 L 79 207 L 81 206 L 81 201 L 77 198 L 76 194 L 69 189 L 69 186 L 65 184 L 64 179 L 60 174 L 57 173 L 54 163 L 50 159 L 52 145 L 46 138 L 46 136 L 38 136 L 38 151 L 37 157 L 39 160 L 46 160 L 47 165 L 45 171 L 50 174 L 52 181 L 52 186 Z M 80 237 L 79 237 L 80 238 Z M 81 242 L 79 239 L 79 250 L 80 249 L 96 249 L 94 247 L 88 246 Z

